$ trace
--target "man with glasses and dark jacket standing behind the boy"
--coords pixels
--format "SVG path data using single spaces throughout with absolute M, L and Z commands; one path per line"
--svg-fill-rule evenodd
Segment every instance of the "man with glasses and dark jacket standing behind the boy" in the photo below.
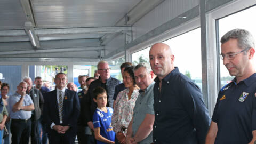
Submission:
M 86 116 L 86 122 L 90 129 L 93 130 L 93 123 L 92 123 L 92 115 L 97 108 L 97 103 L 93 101 L 93 90 L 101 86 L 105 90 L 107 90 L 107 107 L 113 107 L 113 95 L 115 92 L 115 87 L 120 83 L 120 81 L 116 78 L 110 77 L 110 68 L 107 61 L 100 61 L 98 63 L 98 73 L 100 74 L 99 79 L 95 79 L 95 81 L 91 82 L 87 94 L 89 95 L 89 100 L 87 100 L 87 105 L 84 108 L 85 113 L 88 114 Z

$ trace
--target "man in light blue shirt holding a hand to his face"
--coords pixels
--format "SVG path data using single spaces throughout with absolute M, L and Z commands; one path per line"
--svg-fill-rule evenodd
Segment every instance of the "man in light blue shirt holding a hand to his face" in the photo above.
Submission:
M 31 111 L 35 109 L 30 96 L 26 94 L 27 83 L 21 82 L 17 92 L 8 99 L 10 111 L 12 143 L 28 144 L 31 132 Z

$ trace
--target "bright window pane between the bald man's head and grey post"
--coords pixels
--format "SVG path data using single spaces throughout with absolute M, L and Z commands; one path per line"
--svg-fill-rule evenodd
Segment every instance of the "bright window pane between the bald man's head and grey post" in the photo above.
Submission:
M 168 44 L 173 51 L 174 66 L 177 66 L 182 74 L 191 78 L 202 90 L 200 28 L 171 38 L 164 43 Z

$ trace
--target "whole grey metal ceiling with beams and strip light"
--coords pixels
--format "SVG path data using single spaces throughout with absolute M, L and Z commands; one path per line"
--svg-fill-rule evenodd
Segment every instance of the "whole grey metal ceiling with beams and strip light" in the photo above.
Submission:
M 0 61 L 99 61 L 162 1 L 1 0 Z

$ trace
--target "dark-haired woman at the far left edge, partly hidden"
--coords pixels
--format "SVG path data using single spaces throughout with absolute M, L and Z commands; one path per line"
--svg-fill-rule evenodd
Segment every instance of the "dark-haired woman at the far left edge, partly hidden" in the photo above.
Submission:
M 9 88 L 10 87 L 7 83 L 3 83 L 2 87 L 1 87 L 1 97 L 2 97 L 2 100 L 4 102 L 5 107 L 7 109 L 9 109 L 9 106 L 8 106 L 8 103 L 7 103 L 8 98 L 9 98 L 9 96 L 7 96 L 7 94 L 9 93 Z M 10 113 L 9 110 L 7 110 L 7 111 L 8 111 L 8 113 Z M 5 125 L 6 125 L 6 128 L 8 129 L 8 133 L 10 135 L 10 125 L 11 125 L 10 117 L 7 117 Z M 9 135 L 3 139 L 4 144 L 9 144 L 10 143 Z

